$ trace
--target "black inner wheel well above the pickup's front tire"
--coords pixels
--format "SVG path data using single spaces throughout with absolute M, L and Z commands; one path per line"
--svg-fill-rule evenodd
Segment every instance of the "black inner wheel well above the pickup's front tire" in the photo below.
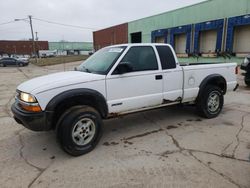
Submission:
M 103 107 L 100 105 L 98 99 L 95 98 L 94 96 L 82 96 L 82 95 L 74 96 L 64 99 L 54 108 L 54 116 L 52 118 L 52 128 L 53 129 L 56 128 L 56 124 L 64 112 L 66 112 L 69 108 L 73 106 L 79 106 L 79 105 L 87 105 L 93 107 L 100 113 L 102 118 L 105 118 L 107 115 Z

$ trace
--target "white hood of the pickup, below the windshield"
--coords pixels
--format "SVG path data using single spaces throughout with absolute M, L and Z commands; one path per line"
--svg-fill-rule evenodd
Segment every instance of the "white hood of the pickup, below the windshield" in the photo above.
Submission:
M 105 75 L 68 71 L 33 78 L 20 84 L 17 89 L 26 93 L 37 94 L 54 88 L 103 79 L 105 79 Z

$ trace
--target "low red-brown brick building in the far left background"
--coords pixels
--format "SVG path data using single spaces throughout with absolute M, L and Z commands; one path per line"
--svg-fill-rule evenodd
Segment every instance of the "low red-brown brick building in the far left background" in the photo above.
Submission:
M 35 50 L 48 50 L 48 41 L 35 41 Z M 0 40 L 0 55 L 1 54 L 16 54 L 16 55 L 32 55 L 33 42 L 32 41 L 12 41 Z

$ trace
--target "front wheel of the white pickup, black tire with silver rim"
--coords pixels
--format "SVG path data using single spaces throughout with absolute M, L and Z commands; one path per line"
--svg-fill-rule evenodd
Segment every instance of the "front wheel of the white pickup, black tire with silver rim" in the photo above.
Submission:
M 72 156 L 92 151 L 101 136 L 102 119 L 92 107 L 72 107 L 59 120 L 57 138 L 62 149 Z

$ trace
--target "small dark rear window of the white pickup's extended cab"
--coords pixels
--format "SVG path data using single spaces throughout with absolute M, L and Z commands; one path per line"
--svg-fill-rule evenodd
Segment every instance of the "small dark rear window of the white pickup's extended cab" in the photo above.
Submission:
M 176 62 L 169 46 L 156 46 L 163 70 L 176 68 Z

